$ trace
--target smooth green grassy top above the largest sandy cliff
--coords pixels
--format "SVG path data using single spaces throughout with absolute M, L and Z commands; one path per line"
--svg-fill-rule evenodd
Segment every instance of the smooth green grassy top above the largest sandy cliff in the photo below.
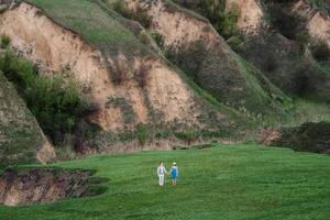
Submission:
M 110 18 L 106 11 L 88 0 L 25 0 L 58 24 L 78 33 L 89 44 L 103 53 L 120 51 L 134 53 L 141 47 L 132 32 Z

